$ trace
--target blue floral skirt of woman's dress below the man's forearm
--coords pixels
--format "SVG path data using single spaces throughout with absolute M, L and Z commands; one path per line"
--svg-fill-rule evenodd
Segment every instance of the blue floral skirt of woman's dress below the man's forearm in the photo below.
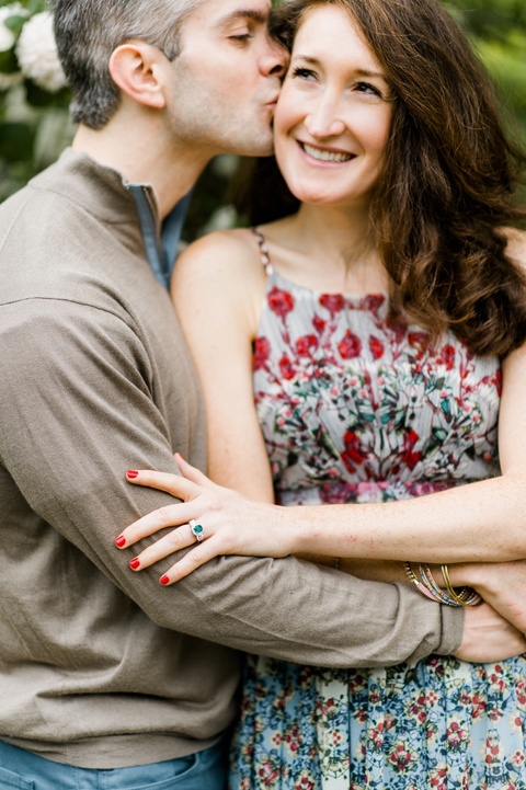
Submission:
M 231 790 L 526 790 L 526 656 L 333 671 L 250 656 Z

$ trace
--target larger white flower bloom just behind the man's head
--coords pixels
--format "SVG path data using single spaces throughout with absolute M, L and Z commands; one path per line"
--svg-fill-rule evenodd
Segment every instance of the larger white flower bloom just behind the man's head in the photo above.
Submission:
M 16 44 L 22 73 L 50 93 L 67 84 L 53 33 L 53 15 L 43 11 L 28 20 Z

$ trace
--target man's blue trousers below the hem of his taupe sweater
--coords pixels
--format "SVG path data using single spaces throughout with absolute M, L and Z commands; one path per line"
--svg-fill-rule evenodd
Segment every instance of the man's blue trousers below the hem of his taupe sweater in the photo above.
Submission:
M 130 768 L 76 768 L 0 741 L 0 790 L 226 790 L 227 743 Z

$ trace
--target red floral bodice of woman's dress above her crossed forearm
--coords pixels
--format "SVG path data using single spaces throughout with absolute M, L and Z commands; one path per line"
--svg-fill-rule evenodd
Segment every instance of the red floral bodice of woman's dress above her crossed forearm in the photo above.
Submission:
M 319 294 L 263 262 L 254 397 L 278 501 L 388 501 L 499 473 L 496 357 L 392 322 L 381 294 Z

